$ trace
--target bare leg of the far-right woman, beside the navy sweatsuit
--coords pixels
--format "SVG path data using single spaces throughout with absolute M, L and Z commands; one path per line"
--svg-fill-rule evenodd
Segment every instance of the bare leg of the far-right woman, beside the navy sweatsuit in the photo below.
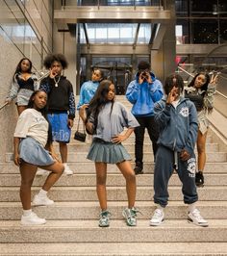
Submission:
M 198 170 L 203 171 L 206 164 L 206 140 L 207 132 L 202 134 L 198 132 L 197 137 L 197 151 L 198 151 Z

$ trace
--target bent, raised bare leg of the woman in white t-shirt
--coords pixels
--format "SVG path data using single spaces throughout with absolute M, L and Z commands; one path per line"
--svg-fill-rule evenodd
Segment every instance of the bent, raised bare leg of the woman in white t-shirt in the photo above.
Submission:
M 48 192 L 50 188 L 58 181 L 58 179 L 63 174 L 63 164 L 59 162 L 55 162 L 51 166 L 39 166 L 39 167 L 51 171 L 51 173 L 46 178 L 44 185 L 42 186 L 42 190 L 45 192 Z

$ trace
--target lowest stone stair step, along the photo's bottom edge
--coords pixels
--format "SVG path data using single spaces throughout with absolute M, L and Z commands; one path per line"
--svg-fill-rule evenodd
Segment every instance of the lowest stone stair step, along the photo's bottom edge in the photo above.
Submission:
M 227 243 L 1 243 L 1 256 L 227 255 Z

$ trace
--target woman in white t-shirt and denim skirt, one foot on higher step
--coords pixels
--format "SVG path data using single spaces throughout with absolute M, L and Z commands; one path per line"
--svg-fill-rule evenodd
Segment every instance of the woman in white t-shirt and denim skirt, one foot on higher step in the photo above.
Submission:
M 31 187 L 38 166 L 49 170 L 50 174 L 42 189 L 35 195 L 33 204 L 36 206 L 54 203 L 48 198 L 47 192 L 63 173 L 63 164 L 55 157 L 50 144 L 51 132 L 46 119 L 46 101 L 45 91 L 35 91 L 31 95 L 27 109 L 19 115 L 14 132 L 14 163 L 19 166 L 21 175 L 22 225 L 39 225 L 46 222 L 45 218 L 38 218 L 31 208 Z M 50 152 L 45 149 L 46 147 Z

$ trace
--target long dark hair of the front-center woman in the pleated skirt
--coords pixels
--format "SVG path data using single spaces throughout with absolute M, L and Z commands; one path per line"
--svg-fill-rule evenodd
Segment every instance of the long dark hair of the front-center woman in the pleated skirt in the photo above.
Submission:
M 108 102 L 110 102 L 110 100 L 108 100 L 108 98 L 107 98 L 107 95 L 108 95 L 111 85 L 113 85 L 113 82 L 111 80 L 106 79 L 106 80 L 101 81 L 97 90 L 94 93 L 94 96 L 92 97 L 92 99 L 89 102 L 87 119 L 88 119 L 89 115 L 91 115 L 91 114 L 93 115 L 94 120 L 95 120 L 94 121 L 95 128 L 97 126 L 97 119 L 98 119 L 98 115 L 99 115 L 100 111 Z M 114 99 L 112 100 L 112 108 L 111 108 L 110 115 L 112 114 L 113 106 L 114 106 Z

